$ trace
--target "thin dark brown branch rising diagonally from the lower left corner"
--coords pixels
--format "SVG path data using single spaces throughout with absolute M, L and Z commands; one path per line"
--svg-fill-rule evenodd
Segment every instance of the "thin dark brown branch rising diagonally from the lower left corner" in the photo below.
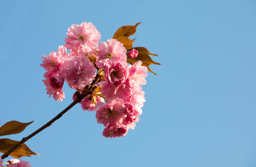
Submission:
M 31 133 L 29 136 L 27 136 L 26 138 L 22 138 L 22 140 L 20 140 L 19 143 L 17 143 L 17 145 L 13 146 L 12 148 L 10 148 L 10 150 L 8 150 L 6 153 L 4 153 L 1 158 L 4 159 L 6 157 L 8 157 L 17 147 L 19 147 L 20 145 L 22 145 L 23 143 L 25 143 L 26 141 L 28 141 L 30 138 L 32 138 L 33 136 L 35 136 L 36 134 L 38 134 L 39 132 L 43 131 L 45 128 L 51 126 L 51 124 L 53 122 L 55 122 L 56 120 L 58 120 L 62 115 L 64 115 L 65 113 L 67 113 L 67 111 L 72 108 L 73 106 L 75 106 L 77 103 L 81 102 L 81 100 L 84 99 L 84 97 L 86 97 L 87 95 L 90 95 L 93 91 L 93 85 L 98 83 L 100 81 L 99 79 L 99 75 L 97 75 L 95 77 L 95 79 L 93 80 L 92 84 L 86 86 L 83 90 L 83 92 L 81 93 L 80 91 L 76 91 L 76 95 L 77 98 L 76 100 L 74 100 L 71 104 L 69 104 L 69 106 L 67 106 L 65 109 L 63 109 L 63 111 L 61 111 L 58 115 L 56 115 L 54 118 L 52 118 L 49 122 L 45 123 L 45 125 L 43 125 L 42 127 L 40 127 L 39 129 L 37 129 L 35 132 Z M 1 165 L 1 164 L 0 164 Z

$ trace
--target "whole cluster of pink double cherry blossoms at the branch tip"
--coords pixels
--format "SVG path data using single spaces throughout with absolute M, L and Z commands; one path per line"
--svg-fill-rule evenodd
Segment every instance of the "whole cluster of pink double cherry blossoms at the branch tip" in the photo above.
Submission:
M 47 94 L 62 101 L 65 81 L 79 92 L 90 85 L 93 89 L 81 100 L 81 107 L 96 111 L 97 122 L 105 127 L 103 136 L 124 136 L 140 120 L 145 102 L 141 85 L 147 83 L 147 67 L 141 61 L 127 64 L 127 57 L 136 58 L 138 51 L 127 51 L 113 38 L 99 43 L 100 33 L 91 22 L 73 24 L 67 36 L 64 46 L 42 57 Z

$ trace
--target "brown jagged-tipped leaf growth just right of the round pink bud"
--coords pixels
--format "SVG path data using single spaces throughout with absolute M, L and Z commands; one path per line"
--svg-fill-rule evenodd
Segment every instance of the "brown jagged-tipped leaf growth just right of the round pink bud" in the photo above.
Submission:
M 145 47 L 134 47 L 133 49 L 136 49 L 138 51 L 138 56 L 134 59 L 127 58 L 127 63 L 131 63 L 133 65 L 133 63 L 140 60 L 142 61 L 141 65 L 148 67 L 148 70 L 157 76 L 157 74 L 150 69 L 149 65 L 152 65 L 152 64 L 161 65 L 161 64 L 157 63 L 156 61 L 153 61 L 152 58 L 150 58 L 150 56 L 148 55 L 150 54 L 150 55 L 157 56 L 157 54 L 150 53 L 148 49 Z

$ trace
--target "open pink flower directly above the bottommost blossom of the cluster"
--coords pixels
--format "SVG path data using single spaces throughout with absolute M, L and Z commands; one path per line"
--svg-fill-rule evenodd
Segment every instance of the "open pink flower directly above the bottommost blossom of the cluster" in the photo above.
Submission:
M 121 99 L 115 99 L 109 104 L 99 102 L 96 112 L 97 122 L 103 123 L 105 127 L 109 123 L 122 123 L 122 118 L 125 116 L 124 102 Z

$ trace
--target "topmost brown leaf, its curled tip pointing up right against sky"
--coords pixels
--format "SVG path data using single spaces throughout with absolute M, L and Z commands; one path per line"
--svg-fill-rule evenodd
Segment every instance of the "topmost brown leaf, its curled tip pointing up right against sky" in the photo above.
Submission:
M 126 36 L 129 37 L 131 35 L 134 35 L 134 33 L 136 32 L 136 28 L 139 24 L 141 24 L 142 22 L 138 22 L 137 24 L 135 24 L 134 26 L 122 26 L 120 28 L 118 28 L 118 30 L 115 32 L 115 34 L 113 35 L 113 38 L 116 39 L 120 36 Z

